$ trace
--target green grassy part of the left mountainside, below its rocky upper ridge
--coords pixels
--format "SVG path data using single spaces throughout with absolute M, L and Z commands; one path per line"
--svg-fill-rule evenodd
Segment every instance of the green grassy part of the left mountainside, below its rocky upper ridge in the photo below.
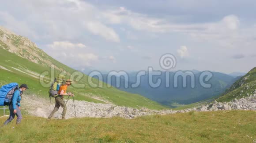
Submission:
M 55 61 L 54 59 L 52 59 Z M 68 68 L 64 64 L 61 64 L 60 62 L 55 61 L 54 62 L 58 67 L 67 69 L 67 72 L 72 73 L 74 70 L 72 68 Z M 49 71 L 49 67 L 44 67 L 39 64 L 35 64 L 31 61 L 28 61 L 22 57 L 19 57 L 15 54 L 12 54 L 8 52 L 7 50 L 4 50 L 0 48 L 0 65 L 4 66 L 5 68 L 13 71 L 9 72 L 7 70 L 0 68 L 0 85 L 7 84 L 9 82 L 18 82 L 21 83 L 27 83 L 28 86 L 30 86 L 30 90 L 27 91 L 29 94 L 35 94 L 39 95 L 41 97 L 48 98 L 48 90 L 49 88 L 44 88 L 40 85 L 39 80 L 35 77 L 32 77 L 30 75 L 24 74 L 22 72 L 19 72 L 11 67 L 14 68 L 24 68 L 29 69 L 32 72 L 36 72 L 38 74 L 41 74 L 44 71 Z M 24 70 L 23 70 L 24 71 Z M 58 73 L 59 71 L 56 71 Z M 69 90 L 75 93 L 76 100 L 86 100 L 86 101 L 92 101 L 96 103 L 104 103 L 100 100 L 96 100 L 94 98 L 91 98 L 90 94 L 96 95 L 98 97 L 101 97 L 102 99 L 109 100 L 110 102 L 113 102 L 114 104 L 120 105 L 120 106 L 128 106 L 128 107 L 147 107 L 151 109 L 163 109 L 165 107 L 161 106 L 160 104 L 149 100 L 145 97 L 142 97 L 138 94 L 131 94 L 126 93 L 123 91 L 120 91 L 116 88 L 107 88 L 106 84 L 104 84 L 103 88 L 93 88 L 90 87 L 87 80 L 87 75 L 83 76 L 83 79 L 79 82 L 82 82 L 85 84 L 85 88 L 74 88 L 71 87 Z M 47 80 L 47 79 L 46 79 Z M 49 80 L 49 79 L 48 79 Z M 94 82 L 97 82 L 96 79 L 94 79 Z

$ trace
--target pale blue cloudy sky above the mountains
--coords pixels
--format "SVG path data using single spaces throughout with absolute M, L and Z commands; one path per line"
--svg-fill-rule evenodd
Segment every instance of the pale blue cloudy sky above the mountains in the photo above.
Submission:
M 255 0 L 4 0 L 0 25 L 78 70 L 248 72 L 256 66 Z

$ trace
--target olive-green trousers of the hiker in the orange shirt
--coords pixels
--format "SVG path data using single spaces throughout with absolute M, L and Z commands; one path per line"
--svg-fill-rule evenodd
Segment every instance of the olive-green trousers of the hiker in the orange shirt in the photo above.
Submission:
M 60 107 L 63 108 L 62 119 L 65 119 L 65 115 L 67 112 L 67 106 L 65 105 L 64 99 L 62 99 L 61 97 L 55 97 L 55 107 L 54 107 L 52 113 L 49 115 L 49 119 L 53 117 L 53 115 L 56 113 L 56 111 L 59 110 Z

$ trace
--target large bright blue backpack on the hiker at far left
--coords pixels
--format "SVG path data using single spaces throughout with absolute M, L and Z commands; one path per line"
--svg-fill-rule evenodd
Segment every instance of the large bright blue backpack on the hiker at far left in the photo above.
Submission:
M 10 83 L 0 88 L 0 106 L 9 106 L 13 93 L 19 89 L 18 83 Z

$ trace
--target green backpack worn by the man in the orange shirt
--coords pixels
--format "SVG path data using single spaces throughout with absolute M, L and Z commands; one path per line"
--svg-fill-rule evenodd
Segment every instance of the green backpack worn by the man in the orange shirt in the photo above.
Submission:
M 64 84 L 65 76 L 64 75 L 59 75 L 56 77 L 51 84 L 50 90 L 49 90 L 49 97 L 57 97 L 58 92 L 60 90 L 60 86 Z

